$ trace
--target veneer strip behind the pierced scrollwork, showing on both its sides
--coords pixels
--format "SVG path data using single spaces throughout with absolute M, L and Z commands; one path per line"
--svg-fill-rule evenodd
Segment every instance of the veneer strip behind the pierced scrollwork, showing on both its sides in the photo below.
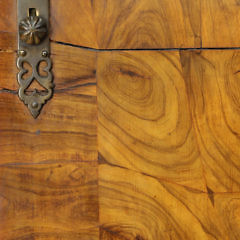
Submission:
M 17 54 L 0 52 L 0 89 L 16 91 Z M 51 44 L 55 93 L 96 96 L 96 53 L 60 44 Z

